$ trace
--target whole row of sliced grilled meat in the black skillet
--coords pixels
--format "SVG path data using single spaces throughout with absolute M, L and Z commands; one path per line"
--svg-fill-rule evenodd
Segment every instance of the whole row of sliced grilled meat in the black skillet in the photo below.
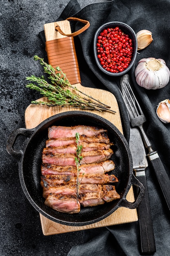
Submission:
M 76 132 L 79 133 L 79 145 L 82 145 L 78 202 Z M 113 144 L 107 130 L 92 126 L 52 126 L 48 135 L 41 166 L 41 186 L 47 206 L 63 213 L 78 213 L 80 203 L 84 207 L 96 206 L 120 198 L 115 186 L 111 185 L 118 182 L 117 177 L 108 175 L 115 164 L 110 160 Z

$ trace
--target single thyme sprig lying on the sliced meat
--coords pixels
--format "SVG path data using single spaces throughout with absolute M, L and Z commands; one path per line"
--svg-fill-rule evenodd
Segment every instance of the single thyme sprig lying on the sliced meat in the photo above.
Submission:
M 82 153 L 82 148 L 83 146 L 82 145 L 79 145 L 79 133 L 76 132 L 75 133 L 75 139 L 76 139 L 76 144 L 77 144 L 77 149 L 76 149 L 76 154 L 77 154 L 77 157 L 75 157 L 75 163 L 76 163 L 76 166 L 77 166 L 77 183 L 76 183 L 76 189 L 77 189 L 77 203 L 78 203 L 78 198 L 79 198 L 79 185 L 82 181 L 82 179 L 79 181 L 79 172 L 80 172 L 80 168 L 79 166 L 81 165 L 81 161 L 82 161 L 82 156 L 81 156 L 81 153 Z M 83 175 L 84 173 L 82 174 L 82 178 L 83 178 Z

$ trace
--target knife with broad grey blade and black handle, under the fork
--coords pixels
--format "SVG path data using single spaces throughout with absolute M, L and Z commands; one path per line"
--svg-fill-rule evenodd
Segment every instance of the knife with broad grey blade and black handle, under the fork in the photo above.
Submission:
M 145 187 L 144 198 L 138 207 L 141 252 L 143 254 L 151 254 L 156 252 L 156 246 L 145 173 L 145 169 L 148 167 L 148 161 L 141 134 L 137 128 L 130 127 L 129 147 L 132 154 L 133 170 L 136 173 L 137 179 Z

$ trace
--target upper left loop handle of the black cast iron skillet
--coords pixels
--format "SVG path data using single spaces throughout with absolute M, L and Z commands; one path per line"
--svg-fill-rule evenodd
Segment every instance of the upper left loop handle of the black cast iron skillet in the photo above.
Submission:
M 30 137 L 33 134 L 33 132 L 34 132 L 33 129 L 26 129 L 26 128 L 18 128 L 14 130 L 9 135 L 9 138 L 7 141 L 7 152 L 19 161 L 23 155 L 23 151 L 13 148 L 15 145 L 15 141 L 18 138 L 18 136 L 23 135 L 25 137 Z

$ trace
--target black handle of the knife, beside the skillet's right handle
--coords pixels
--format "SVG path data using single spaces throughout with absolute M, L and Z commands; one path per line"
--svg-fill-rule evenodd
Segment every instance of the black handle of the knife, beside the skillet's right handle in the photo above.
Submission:
M 144 185 L 145 194 L 138 207 L 139 227 L 141 236 L 142 254 L 151 254 L 156 252 L 155 237 L 152 225 L 152 216 L 150 212 L 150 203 L 148 195 L 148 186 L 146 176 L 137 176 L 137 179 Z

